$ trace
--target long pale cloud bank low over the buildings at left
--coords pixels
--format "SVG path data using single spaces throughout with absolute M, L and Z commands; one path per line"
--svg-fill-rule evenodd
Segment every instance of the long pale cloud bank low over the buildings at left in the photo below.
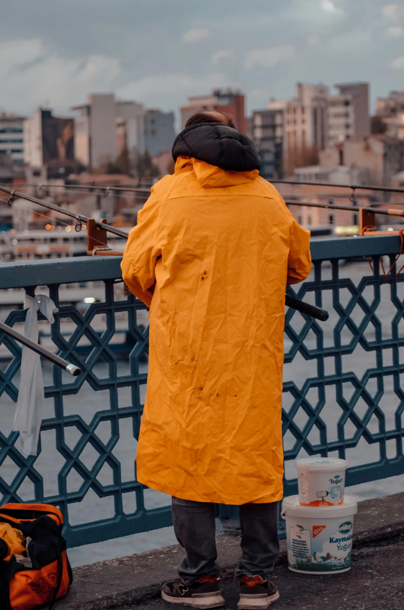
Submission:
M 201 76 L 159 71 L 135 78 L 116 57 L 65 59 L 49 51 L 40 38 L 0 41 L 0 57 L 0 79 L 7 82 L 2 88 L 1 107 L 23 115 L 32 115 L 35 107 L 45 105 L 64 114 L 71 106 L 85 102 L 87 93 L 109 91 L 148 107 L 164 104 L 164 110 L 176 109 L 190 95 L 237 86 L 221 71 Z M 68 110 L 68 114 L 72 113 Z

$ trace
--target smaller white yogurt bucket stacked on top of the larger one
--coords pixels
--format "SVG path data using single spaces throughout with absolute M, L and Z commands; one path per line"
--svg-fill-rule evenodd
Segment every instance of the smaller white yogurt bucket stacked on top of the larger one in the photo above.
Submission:
M 339 458 L 304 458 L 296 461 L 299 500 L 302 506 L 344 504 L 345 470 Z

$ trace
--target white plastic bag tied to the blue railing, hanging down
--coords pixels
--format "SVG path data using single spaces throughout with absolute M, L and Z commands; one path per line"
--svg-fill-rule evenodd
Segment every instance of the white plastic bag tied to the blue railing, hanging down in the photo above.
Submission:
M 27 315 L 24 325 L 24 336 L 38 343 L 38 310 L 51 324 L 53 314 L 58 311 L 49 296 L 25 295 L 24 309 Z M 43 416 L 43 379 L 39 354 L 23 346 L 21 357 L 20 391 L 18 392 L 13 430 L 20 432 L 21 451 L 24 455 L 36 456 L 38 438 Z

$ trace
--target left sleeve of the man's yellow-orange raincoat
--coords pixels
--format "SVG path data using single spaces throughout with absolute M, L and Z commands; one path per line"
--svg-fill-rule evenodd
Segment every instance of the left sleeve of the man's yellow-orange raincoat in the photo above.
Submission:
M 161 250 L 157 246 L 161 196 L 152 193 L 137 215 L 137 225 L 129 231 L 121 262 L 122 277 L 129 290 L 148 307 L 153 297 L 154 268 Z

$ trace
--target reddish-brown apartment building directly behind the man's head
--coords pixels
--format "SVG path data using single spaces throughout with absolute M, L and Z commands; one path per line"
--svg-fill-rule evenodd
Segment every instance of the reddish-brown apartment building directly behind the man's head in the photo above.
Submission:
M 198 110 L 217 110 L 233 117 L 234 123 L 242 134 L 247 133 L 245 118 L 245 96 L 240 91 L 231 89 L 214 89 L 211 95 L 201 95 L 188 98 L 188 105 L 179 110 L 181 129 L 184 129 L 189 117 Z

